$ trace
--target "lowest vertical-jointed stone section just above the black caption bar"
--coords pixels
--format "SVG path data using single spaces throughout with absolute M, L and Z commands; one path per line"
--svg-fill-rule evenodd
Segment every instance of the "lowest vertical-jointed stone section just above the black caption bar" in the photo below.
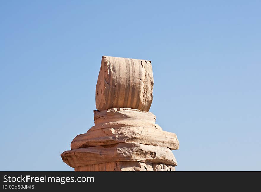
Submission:
M 175 166 L 160 163 L 117 161 L 75 167 L 74 171 L 175 171 Z

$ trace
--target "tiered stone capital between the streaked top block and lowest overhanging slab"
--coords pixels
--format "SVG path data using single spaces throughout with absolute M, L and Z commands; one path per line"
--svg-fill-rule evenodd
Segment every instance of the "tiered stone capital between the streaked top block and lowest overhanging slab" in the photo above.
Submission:
M 71 142 L 71 149 L 126 142 L 179 149 L 176 134 L 155 125 L 156 117 L 150 112 L 118 108 L 94 113 L 95 126 L 87 133 L 77 135 Z

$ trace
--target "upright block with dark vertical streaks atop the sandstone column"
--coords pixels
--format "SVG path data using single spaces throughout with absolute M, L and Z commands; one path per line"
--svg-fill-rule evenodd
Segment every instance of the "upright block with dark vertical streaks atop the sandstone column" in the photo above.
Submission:
M 103 56 L 96 85 L 96 108 L 149 111 L 153 84 L 150 61 Z

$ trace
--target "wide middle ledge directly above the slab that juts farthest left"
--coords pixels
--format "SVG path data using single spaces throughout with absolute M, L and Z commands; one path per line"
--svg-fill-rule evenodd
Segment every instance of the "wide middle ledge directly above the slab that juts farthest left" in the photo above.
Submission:
M 71 149 L 136 142 L 146 145 L 179 149 L 175 133 L 144 127 L 104 128 L 77 135 L 71 142 Z

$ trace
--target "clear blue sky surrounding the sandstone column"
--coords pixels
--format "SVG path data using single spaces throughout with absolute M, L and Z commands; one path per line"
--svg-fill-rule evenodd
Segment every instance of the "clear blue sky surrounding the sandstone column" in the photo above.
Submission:
M 261 171 L 261 1 L 0 1 L 1 171 L 68 171 L 103 55 L 148 59 L 177 171 Z

